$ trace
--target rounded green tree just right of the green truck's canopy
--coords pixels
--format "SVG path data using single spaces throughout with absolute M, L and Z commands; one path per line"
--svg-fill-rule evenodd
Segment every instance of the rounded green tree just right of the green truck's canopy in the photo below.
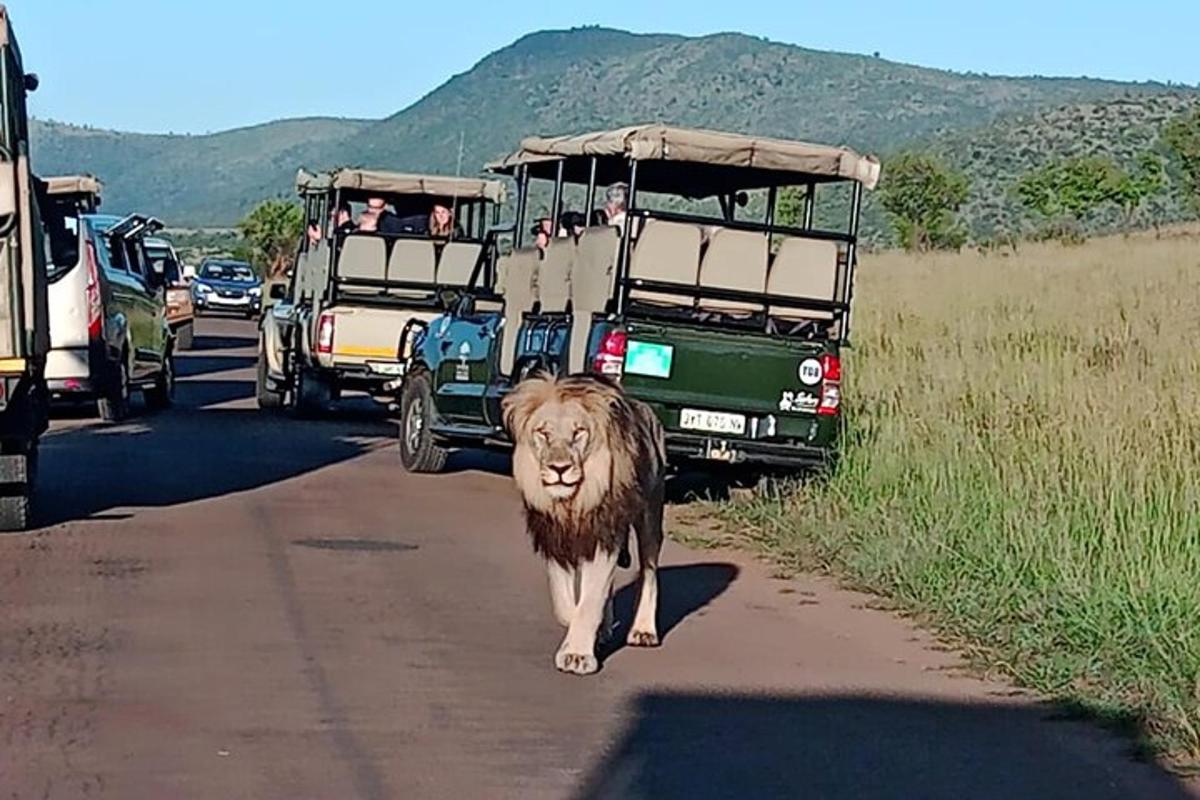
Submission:
M 967 239 L 956 215 L 968 191 L 966 175 L 932 156 L 907 152 L 883 164 L 880 203 L 905 249 L 958 249 Z

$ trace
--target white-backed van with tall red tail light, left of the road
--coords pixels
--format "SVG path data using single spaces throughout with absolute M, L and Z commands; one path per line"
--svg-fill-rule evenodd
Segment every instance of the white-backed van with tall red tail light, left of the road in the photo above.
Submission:
M 53 397 L 95 398 L 101 419 L 119 422 L 133 390 L 140 389 L 151 408 L 170 404 L 174 341 L 166 266 L 150 258 L 144 241 L 162 223 L 137 213 L 96 213 L 98 194 L 91 176 L 48 181 L 46 379 Z

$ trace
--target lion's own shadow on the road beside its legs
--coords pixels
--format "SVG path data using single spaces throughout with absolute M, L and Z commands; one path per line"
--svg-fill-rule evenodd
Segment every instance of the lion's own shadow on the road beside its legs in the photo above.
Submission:
M 636 567 L 636 559 L 634 565 Z M 739 573 L 736 565 L 725 563 L 659 567 L 659 639 L 665 642 L 676 626 L 720 597 L 738 579 Z M 613 597 L 617 632 L 612 642 L 601 646 L 601 661 L 625 648 L 625 636 L 634 620 L 640 588 L 641 582 L 635 575 L 632 583 L 617 590 Z

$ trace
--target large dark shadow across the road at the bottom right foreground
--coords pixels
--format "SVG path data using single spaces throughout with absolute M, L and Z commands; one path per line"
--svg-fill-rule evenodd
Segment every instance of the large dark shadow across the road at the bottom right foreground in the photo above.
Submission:
M 576 800 L 1190 796 L 1122 744 L 1016 704 L 650 692 Z

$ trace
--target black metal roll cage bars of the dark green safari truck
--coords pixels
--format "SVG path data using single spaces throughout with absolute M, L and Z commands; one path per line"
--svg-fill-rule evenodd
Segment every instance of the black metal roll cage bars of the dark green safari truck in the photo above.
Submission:
M 834 321 L 839 323 L 836 325 L 838 341 L 846 343 L 850 339 L 851 329 L 851 305 L 853 300 L 854 289 L 854 269 L 857 265 L 857 251 L 858 251 L 858 227 L 862 217 L 862 205 L 863 205 L 863 185 L 859 181 L 851 179 L 829 179 L 828 176 L 804 176 L 796 173 L 780 173 L 775 176 L 774 182 L 769 185 L 763 185 L 764 174 L 756 172 L 755 181 L 751 181 L 745 188 L 752 190 L 767 190 L 767 207 L 762 222 L 749 222 L 733 219 L 733 205 L 734 198 L 738 194 L 737 190 L 731 190 L 727 193 L 718 194 L 716 198 L 721 205 L 724 218 L 718 219 L 713 217 L 703 217 L 697 215 L 679 213 L 673 211 L 655 211 L 650 209 L 641 209 L 637 205 L 638 191 L 654 191 L 653 187 L 646 190 L 638 186 L 638 160 L 636 158 L 620 158 L 625 162 L 626 169 L 620 173 L 614 173 L 614 164 L 611 163 L 619 157 L 617 156 L 565 156 L 557 158 L 556 167 L 553 169 L 553 181 L 554 181 L 554 193 L 553 200 L 551 203 L 551 219 L 557 224 L 558 219 L 563 212 L 563 188 L 568 182 L 576 182 L 566 180 L 566 162 L 580 162 L 588 161 L 587 175 L 587 205 L 583 210 L 584 218 L 590 222 L 592 215 L 595 210 L 595 196 L 598 190 L 596 176 L 601 170 L 601 160 L 610 163 L 602 167 L 606 175 L 619 174 L 625 182 L 629 185 L 628 198 L 626 198 L 626 224 L 622 230 L 620 246 L 618 251 L 617 260 L 617 275 L 613 282 L 614 296 L 613 305 L 617 313 L 630 313 L 634 311 L 637 313 L 636 305 L 631 309 L 631 303 L 629 299 L 630 289 L 643 289 L 652 290 L 662 294 L 673 294 L 679 296 L 688 296 L 697 300 L 731 300 L 731 301 L 744 301 L 763 306 L 766 311 L 768 307 L 782 307 L 782 308 L 797 308 L 797 309 L 812 309 L 830 312 L 834 314 Z M 677 162 L 678 163 L 678 162 Z M 534 170 L 530 169 L 532 166 L 536 166 L 536 176 L 533 174 Z M 516 221 L 515 221 L 515 233 L 514 233 L 514 246 L 520 248 L 524 241 L 526 234 L 526 215 L 528 212 L 528 197 L 529 197 L 529 181 L 533 178 L 547 179 L 548 172 L 546 169 L 548 164 L 517 164 L 514 168 L 515 179 L 517 182 L 517 209 L 516 209 Z M 582 173 L 578 163 L 572 163 L 570 166 L 570 172 L 572 176 L 577 176 Z M 628 178 L 625 178 L 628 175 Z M 796 179 L 804 179 L 797 181 Z M 818 184 L 846 184 L 852 185 L 851 188 L 851 203 L 850 203 L 850 221 L 845 233 L 834 230 L 821 230 L 814 228 L 814 217 L 816 207 L 816 187 Z M 580 182 L 580 185 L 582 185 Z M 775 206 L 780 188 L 786 187 L 803 187 L 804 190 L 804 211 L 800 227 L 781 225 L 775 223 Z M 712 197 L 712 196 L 710 196 Z M 644 225 L 644 221 L 648 219 L 662 219 L 665 222 L 683 222 L 692 224 L 706 224 L 706 225 L 718 225 L 721 228 L 730 228 L 734 230 L 748 230 L 754 233 L 764 233 L 768 237 L 768 252 L 773 245 L 776 236 L 797 236 L 802 239 L 812 239 L 820 241 L 834 241 L 840 245 L 845 245 L 845 260 L 839 255 L 838 259 L 838 271 L 836 271 L 836 283 L 834 289 L 834 299 L 829 300 L 827 297 L 798 297 L 794 295 L 775 295 L 768 294 L 766 291 L 744 291 L 736 289 L 720 289 L 720 288 L 706 288 L 703 285 L 692 284 L 679 284 L 668 283 L 659 281 L 647 281 L 643 278 L 632 278 L 629 275 L 630 271 L 630 257 L 632 253 L 632 245 L 635 240 L 634 230 L 638 225 L 630 224 L 631 219 L 641 219 Z M 474 276 L 473 276 L 474 279 Z M 769 330 L 772 326 L 772 320 L 768 314 L 762 314 L 763 326 Z

